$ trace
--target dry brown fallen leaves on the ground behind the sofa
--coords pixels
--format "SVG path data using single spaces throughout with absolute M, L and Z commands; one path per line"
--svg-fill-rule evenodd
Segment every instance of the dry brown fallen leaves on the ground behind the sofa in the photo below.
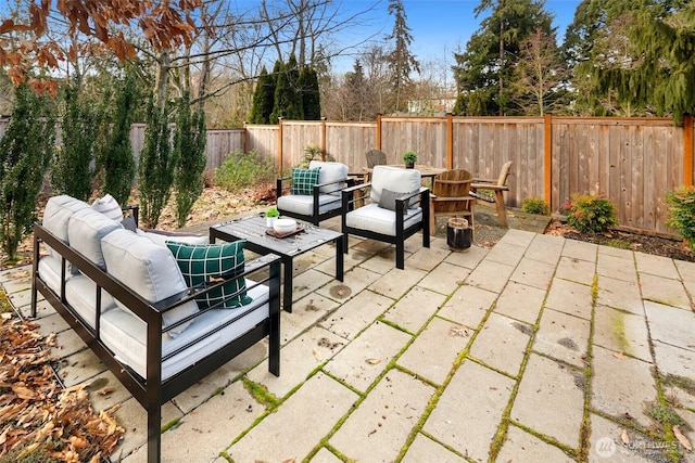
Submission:
M 124 429 L 115 409 L 96 413 L 85 385 L 63 388 L 36 324 L 0 318 L 0 462 L 99 462 Z

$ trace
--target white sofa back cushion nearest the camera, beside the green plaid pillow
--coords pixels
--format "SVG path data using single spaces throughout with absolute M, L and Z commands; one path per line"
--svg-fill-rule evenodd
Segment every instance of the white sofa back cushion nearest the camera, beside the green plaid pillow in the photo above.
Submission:
M 101 250 L 109 273 L 149 303 L 159 303 L 188 288 L 174 255 L 147 236 L 125 229 L 114 230 L 101 240 Z M 116 304 L 128 309 L 117 298 Z M 195 301 L 188 301 L 164 314 L 164 326 L 197 312 Z M 169 336 L 176 336 L 189 324 L 169 331 Z

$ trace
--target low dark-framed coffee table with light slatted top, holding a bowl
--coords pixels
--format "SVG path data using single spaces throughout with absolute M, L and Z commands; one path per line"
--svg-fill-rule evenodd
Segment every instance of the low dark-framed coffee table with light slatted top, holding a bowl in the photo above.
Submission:
M 223 222 L 210 228 L 210 242 L 247 240 L 245 248 L 261 255 L 280 256 L 283 270 L 282 308 L 292 311 L 292 259 L 323 244 L 336 243 L 336 280 L 343 281 L 343 234 L 298 221 L 304 231 L 287 237 L 275 237 L 266 233 L 265 218 L 249 216 Z

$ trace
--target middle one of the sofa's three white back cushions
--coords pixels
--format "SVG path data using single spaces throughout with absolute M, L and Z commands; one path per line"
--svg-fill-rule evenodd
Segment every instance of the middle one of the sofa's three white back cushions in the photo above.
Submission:
M 106 263 L 101 253 L 101 239 L 117 229 L 123 229 L 117 221 L 92 208 L 81 209 L 67 222 L 67 240 L 73 249 L 103 269 Z

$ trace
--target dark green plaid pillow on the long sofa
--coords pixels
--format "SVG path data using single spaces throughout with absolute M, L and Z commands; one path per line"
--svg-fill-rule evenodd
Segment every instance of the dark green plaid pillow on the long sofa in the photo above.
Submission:
M 243 240 L 233 243 L 207 245 L 167 241 L 166 245 L 174 254 L 188 287 L 202 283 L 214 284 L 217 283 L 219 278 L 233 276 L 243 272 L 243 248 L 245 245 Z M 236 296 L 229 298 L 236 293 L 238 293 Z M 198 307 L 201 309 L 212 306 L 218 309 L 231 309 L 249 304 L 252 300 L 251 297 L 247 296 L 247 282 L 243 278 L 230 280 L 219 288 L 195 298 Z M 216 306 L 220 303 L 223 304 Z

